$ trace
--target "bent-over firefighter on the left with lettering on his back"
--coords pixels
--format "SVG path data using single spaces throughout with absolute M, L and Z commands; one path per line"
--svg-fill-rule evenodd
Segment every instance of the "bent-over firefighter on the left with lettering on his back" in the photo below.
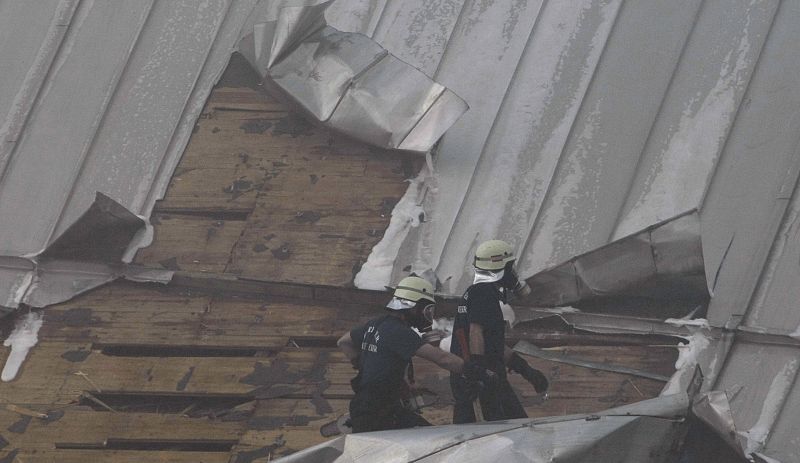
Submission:
M 430 329 L 433 309 L 433 286 L 410 276 L 395 288 L 385 315 L 353 328 L 339 339 L 338 346 L 358 370 L 351 381 L 355 392 L 350 402 L 353 432 L 430 425 L 418 411 L 404 407 L 401 400 L 415 355 L 449 370 L 472 389 L 493 380 L 492 373 L 423 342 L 412 329 Z

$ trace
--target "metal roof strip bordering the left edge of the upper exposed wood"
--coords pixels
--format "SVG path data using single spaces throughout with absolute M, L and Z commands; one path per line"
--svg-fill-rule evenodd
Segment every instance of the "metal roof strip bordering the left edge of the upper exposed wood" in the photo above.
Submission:
M 181 154 L 171 151 L 169 156 L 174 159 L 167 159 L 167 150 L 181 115 L 192 104 L 190 98 L 197 96 L 193 89 L 231 0 L 207 1 L 200 6 L 203 5 L 198 8 L 195 2 L 186 0 L 159 0 L 154 5 L 151 21 L 130 57 L 107 121 L 77 182 L 79 189 L 76 201 L 68 206 L 68 218 L 80 215 L 80 202 L 96 189 L 105 189 L 143 216 L 149 215 L 155 199 L 163 195 L 162 188 L 166 188 Z M 215 58 L 217 69 L 224 68 L 232 42 L 224 47 L 224 55 Z M 208 92 L 213 81 L 207 79 L 203 85 Z M 201 99 L 206 94 L 200 93 L 204 95 Z M 97 175 L 99 172 L 107 177 Z

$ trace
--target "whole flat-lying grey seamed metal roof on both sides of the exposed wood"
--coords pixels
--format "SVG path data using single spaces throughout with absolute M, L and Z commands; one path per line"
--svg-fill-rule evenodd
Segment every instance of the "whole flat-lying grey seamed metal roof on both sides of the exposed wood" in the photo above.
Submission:
M 0 3 L 6 293 L 96 192 L 149 215 L 257 3 Z M 712 326 L 764 333 L 710 376 L 749 391 L 732 406 L 754 448 L 800 459 L 800 0 L 337 0 L 327 17 L 471 107 L 398 272 L 457 292 L 482 240 L 513 242 L 529 276 L 699 207 Z

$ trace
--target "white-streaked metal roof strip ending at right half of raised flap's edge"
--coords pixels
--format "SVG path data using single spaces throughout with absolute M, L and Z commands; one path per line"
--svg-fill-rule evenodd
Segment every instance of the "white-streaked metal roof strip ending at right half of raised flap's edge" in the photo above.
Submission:
M 614 238 L 700 205 L 777 5 L 736 3 L 701 10 Z M 719 76 L 708 89 L 715 69 Z

